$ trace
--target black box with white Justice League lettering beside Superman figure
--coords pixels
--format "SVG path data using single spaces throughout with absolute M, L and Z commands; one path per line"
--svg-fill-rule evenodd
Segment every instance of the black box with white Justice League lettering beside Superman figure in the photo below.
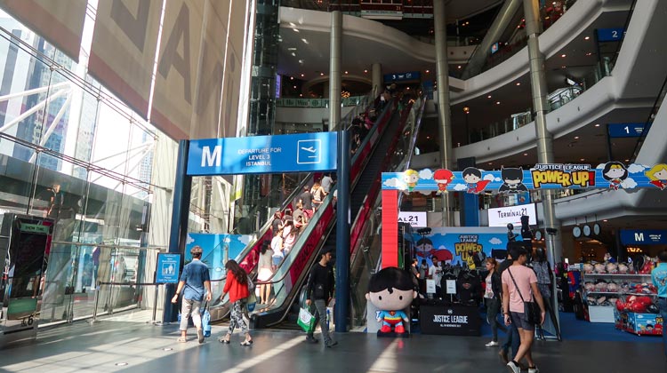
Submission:
M 479 336 L 481 320 L 477 307 L 420 306 L 420 325 L 423 334 Z

